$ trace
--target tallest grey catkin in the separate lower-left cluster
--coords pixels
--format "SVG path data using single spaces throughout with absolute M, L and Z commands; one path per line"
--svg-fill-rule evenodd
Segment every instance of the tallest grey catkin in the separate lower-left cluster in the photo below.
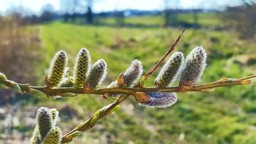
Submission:
M 41 107 L 37 111 L 36 119 L 39 133 L 43 140 L 54 126 L 52 112 L 46 107 Z

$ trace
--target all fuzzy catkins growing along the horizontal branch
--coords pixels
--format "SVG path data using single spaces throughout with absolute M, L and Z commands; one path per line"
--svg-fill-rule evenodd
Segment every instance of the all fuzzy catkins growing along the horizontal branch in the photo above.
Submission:
M 182 52 L 175 52 L 167 60 L 160 70 L 154 84 L 158 88 L 171 86 L 176 80 L 179 81 L 178 90 L 186 92 L 194 87 L 196 82 L 200 80 L 203 71 L 206 67 L 206 52 L 202 46 L 196 46 L 184 60 Z M 100 59 L 94 64 L 91 64 L 90 53 L 86 48 L 82 48 L 75 59 L 73 75 L 65 78 L 68 56 L 66 52 L 61 50 L 54 56 L 48 74 L 46 85 L 50 88 L 58 87 L 76 87 L 86 86 L 84 93 L 88 93 L 93 88 L 98 88 L 107 74 L 107 64 L 105 60 Z M 120 88 L 131 88 L 134 83 L 138 82 L 143 73 L 143 66 L 139 60 L 132 61 L 132 64 L 125 72 L 118 76 L 118 80 L 112 82 L 107 88 L 119 86 Z M 140 102 L 140 105 L 147 107 L 168 107 L 177 101 L 177 95 L 174 92 L 146 92 L 149 97 L 148 102 Z M 145 95 L 143 94 L 143 95 Z M 63 94 L 62 94 L 63 95 Z M 117 100 L 121 93 L 107 93 L 104 96 L 110 100 Z M 136 93 L 138 95 L 138 92 Z M 74 96 L 70 93 L 65 93 L 64 96 Z M 58 95 L 46 94 L 46 98 L 55 99 Z M 135 97 L 135 95 L 134 95 Z

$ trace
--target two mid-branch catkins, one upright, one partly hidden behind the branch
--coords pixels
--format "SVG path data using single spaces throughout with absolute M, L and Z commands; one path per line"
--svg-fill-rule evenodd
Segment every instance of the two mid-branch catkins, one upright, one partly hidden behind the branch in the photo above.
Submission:
M 139 60 L 133 60 L 132 64 L 129 68 L 127 68 L 124 72 L 124 86 L 131 87 L 133 83 L 137 82 L 143 73 L 143 66 L 142 63 Z M 107 86 L 107 88 L 118 86 L 117 80 L 114 82 L 111 82 L 110 85 Z M 108 93 L 105 94 L 107 98 L 109 97 L 115 97 L 118 98 L 121 96 L 120 93 Z M 111 99 L 111 98 L 110 98 Z M 113 99 L 115 100 L 115 99 Z

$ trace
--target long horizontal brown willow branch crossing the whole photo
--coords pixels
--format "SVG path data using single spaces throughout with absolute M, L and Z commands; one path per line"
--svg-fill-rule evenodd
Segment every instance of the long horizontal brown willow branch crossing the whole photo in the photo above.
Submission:
M 215 82 L 210 82 L 206 84 L 199 84 L 195 85 L 192 89 L 188 91 L 201 91 L 206 88 L 216 88 L 216 87 L 223 87 L 223 86 L 233 86 L 233 85 L 240 85 L 242 80 L 248 80 L 250 78 L 256 78 L 256 75 L 240 78 L 237 80 L 232 80 L 232 81 L 226 81 L 226 82 L 221 82 L 220 80 L 215 81 Z M 13 81 L 11 80 L 6 80 L 6 79 L 0 79 L 0 83 L 5 84 L 8 87 L 12 87 L 11 83 Z M 18 83 L 16 83 L 18 84 Z M 27 86 L 26 84 L 18 84 L 21 88 L 21 90 L 24 92 L 28 92 L 30 88 L 40 90 L 44 93 L 48 94 L 58 94 L 62 92 L 72 92 L 76 94 L 84 94 L 82 88 L 52 88 L 49 89 L 47 86 Z M 158 88 L 158 87 L 145 87 L 145 88 L 120 88 L 119 86 L 115 87 L 110 87 L 110 88 L 98 88 L 96 90 L 92 90 L 88 94 L 106 94 L 106 93 L 122 93 L 122 94 L 132 94 L 133 92 L 180 92 L 178 90 L 178 86 L 175 87 L 166 87 L 166 88 Z M 119 100 L 120 102 L 120 100 Z

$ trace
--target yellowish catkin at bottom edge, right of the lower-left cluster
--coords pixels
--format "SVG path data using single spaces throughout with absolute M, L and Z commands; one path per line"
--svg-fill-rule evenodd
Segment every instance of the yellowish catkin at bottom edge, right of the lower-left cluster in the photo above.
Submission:
M 58 126 L 52 128 L 46 137 L 42 140 L 42 144 L 60 144 L 62 140 L 62 132 Z

